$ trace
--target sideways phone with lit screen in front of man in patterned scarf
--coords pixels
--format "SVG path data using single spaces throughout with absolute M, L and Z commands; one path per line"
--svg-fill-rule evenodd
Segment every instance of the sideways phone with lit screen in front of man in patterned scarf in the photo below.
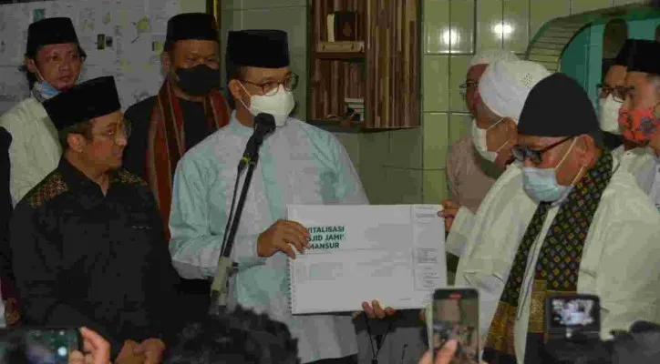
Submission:
M 545 342 L 552 339 L 599 339 L 601 301 L 594 295 L 557 295 L 545 300 Z

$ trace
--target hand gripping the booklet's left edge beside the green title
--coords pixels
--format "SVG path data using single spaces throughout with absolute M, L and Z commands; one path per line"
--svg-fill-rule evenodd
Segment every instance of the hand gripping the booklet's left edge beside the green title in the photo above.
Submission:
M 277 220 L 259 235 L 257 239 L 257 255 L 272 257 L 278 251 L 295 258 L 292 245 L 300 253 L 309 248 L 309 231 L 295 221 Z

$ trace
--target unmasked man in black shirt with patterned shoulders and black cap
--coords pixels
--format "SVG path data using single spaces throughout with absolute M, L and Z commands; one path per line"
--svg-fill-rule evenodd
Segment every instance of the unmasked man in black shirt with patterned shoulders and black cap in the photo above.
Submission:
M 178 276 L 153 194 L 120 168 L 129 129 L 115 81 L 90 80 L 44 106 L 64 155 L 10 222 L 25 323 L 86 326 L 111 342 L 113 358 L 127 340 L 125 353 L 156 362 Z

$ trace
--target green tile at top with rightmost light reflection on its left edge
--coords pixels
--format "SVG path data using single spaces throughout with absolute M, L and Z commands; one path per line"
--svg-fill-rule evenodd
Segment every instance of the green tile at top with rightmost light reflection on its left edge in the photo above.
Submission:
M 524 53 L 530 43 L 529 25 L 529 0 L 507 0 L 504 2 L 504 22 L 501 26 L 501 33 L 504 37 L 505 49 L 509 49 L 514 53 Z

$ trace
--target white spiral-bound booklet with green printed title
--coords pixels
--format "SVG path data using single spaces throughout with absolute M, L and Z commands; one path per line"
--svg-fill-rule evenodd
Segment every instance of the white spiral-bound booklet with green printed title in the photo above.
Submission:
M 396 309 L 424 308 L 447 286 L 444 219 L 439 205 L 287 207 L 311 234 L 289 258 L 295 314 L 362 310 L 374 299 Z

